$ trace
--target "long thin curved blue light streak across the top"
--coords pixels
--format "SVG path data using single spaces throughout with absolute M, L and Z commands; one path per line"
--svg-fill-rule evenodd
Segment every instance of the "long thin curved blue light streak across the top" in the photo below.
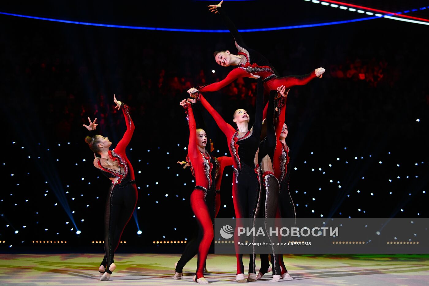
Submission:
M 96 26 L 96 27 L 109 27 L 109 28 L 134 29 L 134 30 L 170 31 L 170 32 L 230 33 L 229 30 L 200 30 L 200 29 L 176 29 L 176 28 L 157 28 L 157 27 L 137 27 L 137 26 L 110 25 L 110 24 L 98 24 L 98 23 L 89 23 L 89 22 L 80 22 L 80 21 L 69 21 L 69 20 L 43 18 L 43 17 L 28 16 L 28 15 L 19 15 L 19 14 L 12 14 L 12 13 L 6 13 L 6 12 L 0 12 L 0 14 L 2 14 L 2 15 L 8 15 L 8 16 L 15 16 L 15 17 L 22 17 L 22 18 L 36 19 L 36 20 L 53 21 L 53 22 L 60 22 L 60 23 L 66 23 L 66 24 L 79 24 L 79 25 Z M 243 29 L 243 30 L 239 30 L 239 32 L 241 32 L 241 33 L 246 33 L 246 32 L 265 32 L 265 31 L 275 31 L 275 30 L 311 28 L 311 27 L 320 27 L 320 26 L 329 26 L 329 25 L 353 23 L 353 22 L 366 21 L 366 20 L 372 20 L 372 19 L 377 19 L 377 18 L 380 18 L 380 17 L 375 16 L 375 17 L 369 17 L 369 18 L 358 18 L 358 19 L 352 19 L 352 20 L 345 20 L 345 21 L 334 21 L 334 22 L 317 23 L 317 24 L 305 24 L 305 25 L 293 25 L 293 26 L 284 26 L 284 27 Z

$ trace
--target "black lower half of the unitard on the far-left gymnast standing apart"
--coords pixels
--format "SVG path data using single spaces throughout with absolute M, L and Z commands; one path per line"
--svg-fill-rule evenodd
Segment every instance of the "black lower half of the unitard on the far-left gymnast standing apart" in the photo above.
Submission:
M 110 187 L 106 199 L 104 213 L 104 258 L 103 265 L 107 273 L 114 262 L 113 256 L 121 241 L 125 226 L 133 215 L 137 203 L 137 187 L 135 181 L 123 182 Z

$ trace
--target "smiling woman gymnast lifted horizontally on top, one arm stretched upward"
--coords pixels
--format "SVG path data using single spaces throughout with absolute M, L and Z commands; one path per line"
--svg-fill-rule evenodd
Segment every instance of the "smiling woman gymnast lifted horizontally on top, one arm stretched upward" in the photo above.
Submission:
M 209 5 L 211 12 L 221 15 L 224 24 L 228 30 L 233 34 L 235 39 L 237 54 L 231 54 L 230 51 L 215 51 L 215 61 L 221 66 L 237 66 L 235 69 L 228 73 L 227 77 L 221 81 L 205 84 L 198 87 L 200 92 L 217 91 L 227 86 L 237 78 L 257 78 L 261 77 L 264 82 L 266 90 L 276 90 L 277 87 L 284 85 L 287 89 L 295 85 L 305 85 L 315 77 L 321 78 L 325 69 L 318 68 L 308 73 L 307 75 L 288 75 L 279 77 L 278 72 L 269 63 L 269 61 L 262 54 L 254 51 L 245 44 L 242 36 L 238 32 L 234 23 L 228 18 L 227 14 L 221 8 L 221 4 Z

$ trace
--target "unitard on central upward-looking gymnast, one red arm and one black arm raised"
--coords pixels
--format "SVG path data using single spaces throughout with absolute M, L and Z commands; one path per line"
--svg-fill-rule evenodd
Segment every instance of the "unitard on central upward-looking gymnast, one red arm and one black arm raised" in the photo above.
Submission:
M 198 93 L 202 105 L 227 136 L 228 147 L 234 161 L 233 203 L 237 218 L 253 217 L 259 190 L 259 183 L 254 170 L 257 163 L 256 154 L 260 144 L 262 127 L 263 83 L 261 79 L 258 79 L 257 90 L 255 122 L 252 128 L 241 138 L 238 137 L 239 132 L 226 123 L 204 96 Z M 239 241 L 236 232 L 234 233 L 234 240 Z M 236 256 L 237 274 L 244 274 L 243 255 L 237 253 Z M 252 269 L 252 261 L 252 255 L 250 255 L 249 271 Z

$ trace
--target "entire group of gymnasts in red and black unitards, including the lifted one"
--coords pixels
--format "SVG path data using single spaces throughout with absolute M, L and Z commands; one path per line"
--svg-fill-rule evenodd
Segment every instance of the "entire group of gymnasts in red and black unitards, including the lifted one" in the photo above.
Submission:
M 191 98 L 184 99 L 184 107 L 189 125 L 189 144 L 186 161 L 178 162 L 189 166 L 195 177 L 195 187 L 190 194 L 190 207 L 198 224 L 196 237 L 189 241 L 181 259 L 176 263 L 174 279 L 181 279 L 184 265 L 197 254 L 197 268 L 193 280 L 207 284 L 204 278 L 205 262 L 213 241 L 214 218 L 220 208 L 220 186 L 225 166 L 233 166 L 233 204 L 237 218 L 296 217 L 292 197 L 289 192 L 288 169 L 289 148 L 286 145 L 287 126 L 284 123 L 287 93 L 290 87 L 304 85 L 313 78 L 321 78 L 323 68 L 313 70 L 307 75 L 279 77 L 269 61 L 257 51 L 249 48 L 242 39 L 233 22 L 221 8 L 223 1 L 209 5 L 209 11 L 221 16 L 224 24 L 232 33 L 237 54 L 230 51 L 215 51 L 216 63 L 221 66 L 236 66 L 221 81 L 187 90 Z M 227 123 L 204 98 L 203 93 L 217 91 L 237 78 L 255 78 L 257 80 L 257 98 L 255 120 L 249 126 L 250 116 L 244 109 L 233 114 L 236 127 Z M 267 104 L 263 104 L 264 89 L 269 92 Z M 100 264 L 100 280 L 109 280 L 116 266 L 114 252 L 121 240 L 121 234 L 133 215 L 137 202 L 137 188 L 133 167 L 125 154 L 125 149 L 134 132 L 134 123 L 130 117 L 128 105 L 116 99 L 115 108 L 122 109 L 127 131 L 121 141 L 110 150 L 112 142 L 102 135 L 87 136 L 85 141 L 94 152 L 94 166 L 112 180 L 106 199 L 104 249 L 105 256 Z M 227 136 L 231 157 L 211 155 L 212 144 L 205 132 L 204 118 L 200 108 L 205 108 L 213 117 L 221 131 Z M 92 131 L 97 129 L 96 120 L 84 126 Z M 250 127 L 250 128 L 249 128 Z M 234 240 L 239 241 L 237 232 Z M 237 244 L 236 244 L 237 245 Z M 237 250 L 237 247 L 236 247 Z M 256 274 L 256 254 L 250 254 L 248 282 L 257 281 L 267 272 L 273 271 L 272 282 L 281 279 L 292 280 L 283 262 L 283 255 L 261 254 L 261 267 Z M 236 254 L 236 281 L 246 282 L 242 254 Z M 271 269 L 270 269 L 271 268 Z

